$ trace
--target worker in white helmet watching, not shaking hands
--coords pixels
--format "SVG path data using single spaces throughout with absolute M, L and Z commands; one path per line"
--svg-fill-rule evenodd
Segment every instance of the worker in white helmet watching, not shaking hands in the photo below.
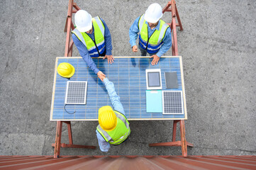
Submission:
M 129 30 L 129 42 L 133 52 L 138 52 L 138 47 L 141 56 L 146 56 L 148 52 L 151 58 L 153 58 L 152 65 L 157 64 L 160 57 L 172 46 L 171 29 L 160 18 L 162 18 L 160 4 L 151 4 L 142 16 L 135 19 Z M 139 45 L 137 47 L 138 33 Z

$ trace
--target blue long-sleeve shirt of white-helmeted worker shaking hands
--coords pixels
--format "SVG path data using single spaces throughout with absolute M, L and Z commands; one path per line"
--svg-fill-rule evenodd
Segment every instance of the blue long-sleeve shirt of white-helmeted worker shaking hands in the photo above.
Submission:
M 105 39 L 105 46 L 106 46 L 106 55 L 112 55 L 112 42 L 111 42 L 111 34 L 108 30 L 108 26 L 103 19 L 101 19 L 102 23 L 104 24 L 105 31 L 104 31 L 104 39 Z M 89 37 L 94 40 L 94 29 L 91 34 L 87 33 Z M 77 35 L 72 34 L 72 39 L 74 41 L 74 45 L 77 46 L 77 50 L 79 51 L 80 55 L 83 57 L 84 62 L 88 64 L 88 67 L 94 71 L 95 74 L 99 72 L 99 69 L 96 67 L 94 60 L 91 59 L 87 47 L 77 38 Z

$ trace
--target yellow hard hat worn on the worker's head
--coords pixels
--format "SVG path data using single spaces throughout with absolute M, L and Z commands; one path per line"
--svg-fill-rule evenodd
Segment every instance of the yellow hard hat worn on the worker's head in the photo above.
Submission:
M 99 108 L 99 125 L 103 130 L 111 131 L 116 128 L 117 118 L 111 106 Z

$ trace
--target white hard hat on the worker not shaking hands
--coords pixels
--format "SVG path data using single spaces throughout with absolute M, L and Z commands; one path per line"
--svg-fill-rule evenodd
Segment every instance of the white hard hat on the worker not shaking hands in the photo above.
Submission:
M 148 23 L 157 23 L 162 18 L 162 7 L 160 4 L 154 3 L 148 6 L 144 18 Z

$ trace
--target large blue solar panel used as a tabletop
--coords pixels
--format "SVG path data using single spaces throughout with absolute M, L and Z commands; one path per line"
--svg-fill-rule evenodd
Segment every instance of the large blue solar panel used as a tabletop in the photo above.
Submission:
M 181 120 L 187 119 L 186 101 L 184 100 L 184 114 L 163 115 L 162 113 L 146 112 L 146 76 L 145 69 L 161 69 L 162 90 L 183 91 L 182 85 L 182 57 L 161 57 L 157 65 L 152 66 L 152 59 L 148 57 L 115 57 L 113 64 L 108 64 L 102 58 L 93 59 L 99 70 L 115 85 L 116 92 L 128 120 Z M 61 62 L 69 62 L 75 72 L 71 79 L 60 77 L 57 66 Z M 165 72 L 177 72 L 178 89 L 166 89 Z M 65 111 L 65 91 L 67 81 L 87 81 L 87 104 L 67 105 Z M 52 108 L 50 120 L 97 120 L 101 106 L 111 106 L 106 88 L 101 80 L 89 69 L 82 57 L 57 57 L 55 65 L 55 79 L 52 91 Z

